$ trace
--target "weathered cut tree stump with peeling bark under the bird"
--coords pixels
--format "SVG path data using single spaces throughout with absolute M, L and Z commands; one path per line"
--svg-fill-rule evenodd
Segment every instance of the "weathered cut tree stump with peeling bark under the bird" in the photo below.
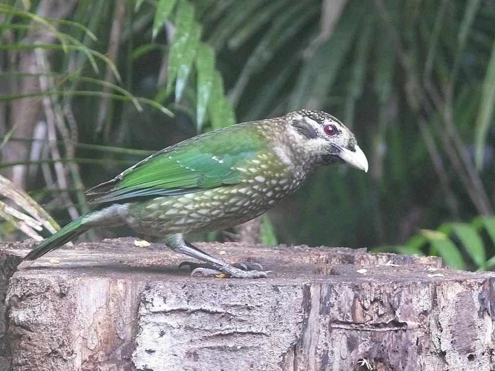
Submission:
M 437 257 L 198 244 L 274 271 L 244 280 L 134 238 L 21 263 L 33 244 L 0 244 L 2 371 L 495 369 L 495 274 Z

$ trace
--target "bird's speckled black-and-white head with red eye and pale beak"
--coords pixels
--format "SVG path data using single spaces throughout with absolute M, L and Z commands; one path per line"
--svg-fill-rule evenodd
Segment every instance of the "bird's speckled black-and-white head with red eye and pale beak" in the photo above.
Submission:
M 305 150 L 318 163 L 346 162 L 368 171 L 368 160 L 357 145 L 354 134 L 335 117 L 322 111 L 300 110 L 288 115 Z

